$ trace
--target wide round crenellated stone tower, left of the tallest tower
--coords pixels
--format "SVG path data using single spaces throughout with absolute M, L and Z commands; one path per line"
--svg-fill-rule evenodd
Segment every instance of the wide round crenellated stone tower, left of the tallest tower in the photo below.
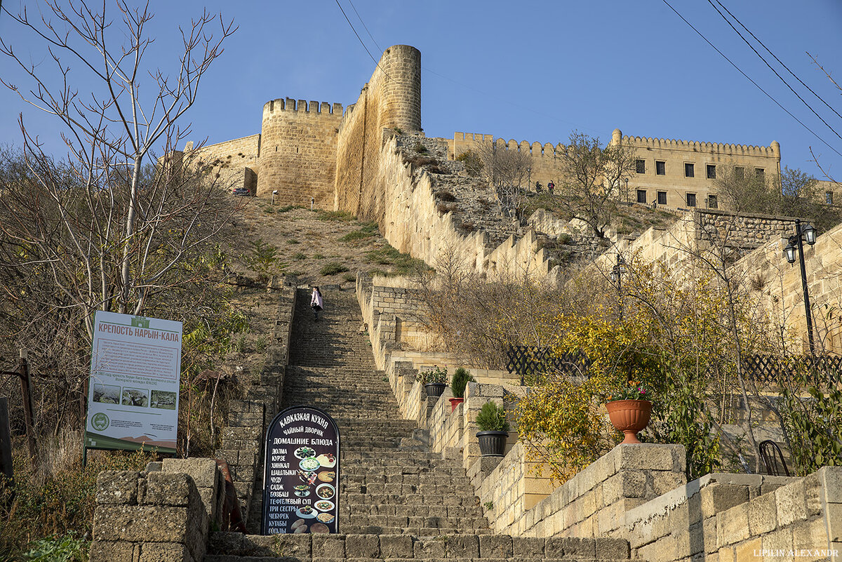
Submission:
M 258 195 L 278 191 L 280 204 L 333 208 L 342 105 L 274 99 L 263 109 Z

